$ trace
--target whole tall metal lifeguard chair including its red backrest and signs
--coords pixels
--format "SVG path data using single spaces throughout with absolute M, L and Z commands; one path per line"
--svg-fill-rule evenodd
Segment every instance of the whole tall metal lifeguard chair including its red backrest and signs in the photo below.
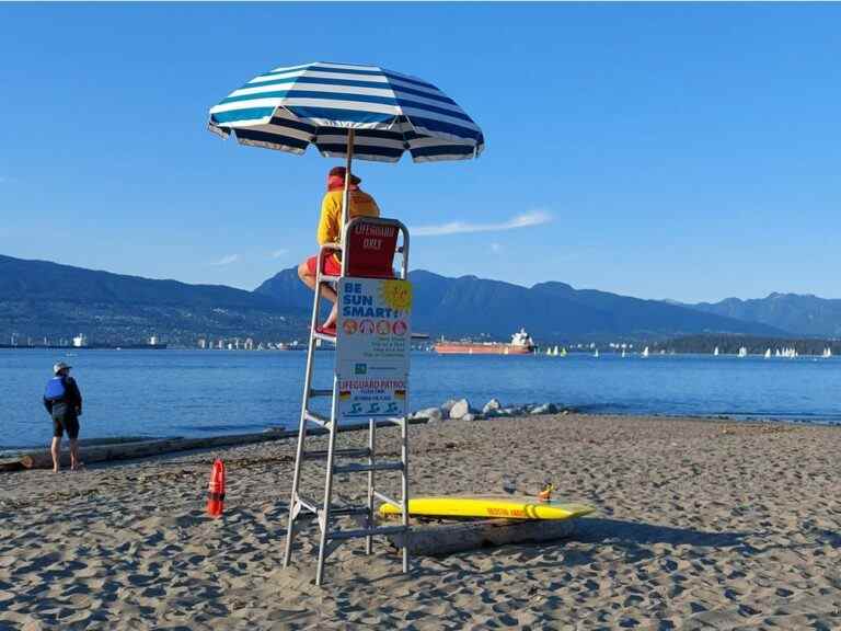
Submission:
M 339 276 L 327 275 L 327 256 L 338 254 L 342 260 Z M 400 256 L 400 269 L 394 273 L 394 256 Z M 314 516 L 320 528 L 319 561 L 315 584 L 324 578 L 324 561 L 345 540 L 365 538 L 367 554 L 372 552 L 373 537 L 403 534 L 408 538 L 408 349 L 411 331 L 411 288 L 408 271 L 408 230 L 395 219 L 357 217 L 344 230 L 342 244 L 325 244 L 319 251 L 315 292 L 312 305 L 310 339 L 307 349 L 307 372 L 303 381 L 298 448 L 295 459 L 292 494 L 284 554 L 284 566 L 291 560 L 298 520 Z M 335 284 L 337 289 L 338 321 L 335 334 L 318 326 L 323 298 L 323 284 Z M 375 296 L 375 292 L 378 292 Z M 407 295 L 406 295 L 407 292 Z M 390 306 L 375 306 L 378 300 Z M 345 302 L 348 303 L 345 314 Z M 401 309 L 402 307 L 402 309 Z M 371 313 L 371 317 L 368 314 Z M 356 317 L 359 316 L 359 317 Z M 379 316 L 379 318 L 378 318 Z M 388 329 L 388 331 L 385 331 Z M 383 342 L 388 340 L 388 344 Z M 315 348 L 319 344 L 335 344 L 335 365 L 332 388 L 313 388 Z M 379 346 L 378 346 L 379 344 Z M 389 346 L 390 356 L 378 358 L 378 347 Z M 394 348 L 403 348 L 404 363 Z M 370 370 L 369 370 L 370 369 Z M 368 390 L 366 390 L 368 388 Z M 366 392 L 368 394 L 366 394 Z M 331 398 L 329 413 L 312 406 L 315 398 Z M 367 417 L 367 418 L 366 418 Z M 359 420 L 368 425 L 368 446 L 361 449 L 336 449 L 336 434 L 342 421 Z M 306 441 L 311 425 L 327 434 L 326 451 L 308 451 Z M 399 460 L 377 460 L 376 434 L 378 426 L 400 427 L 401 456 Z M 304 462 L 326 460 L 323 501 L 308 498 L 300 493 Z M 400 472 L 401 498 L 389 497 L 377 491 L 376 472 Z M 333 477 L 367 473 L 368 490 L 364 504 L 333 504 Z M 375 501 L 399 506 L 400 525 L 378 526 L 375 520 Z M 338 528 L 334 521 L 343 517 L 357 517 L 361 527 Z M 408 546 L 403 546 L 403 572 L 408 572 Z

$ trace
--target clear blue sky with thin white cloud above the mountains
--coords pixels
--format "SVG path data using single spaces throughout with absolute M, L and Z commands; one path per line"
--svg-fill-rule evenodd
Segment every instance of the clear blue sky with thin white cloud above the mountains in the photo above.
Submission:
M 476 161 L 358 163 L 417 229 L 413 267 L 841 297 L 840 23 L 841 4 L 0 4 L 0 253 L 249 289 L 296 264 L 339 162 L 223 141 L 207 110 L 324 60 L 431 81 L 485 133 Z

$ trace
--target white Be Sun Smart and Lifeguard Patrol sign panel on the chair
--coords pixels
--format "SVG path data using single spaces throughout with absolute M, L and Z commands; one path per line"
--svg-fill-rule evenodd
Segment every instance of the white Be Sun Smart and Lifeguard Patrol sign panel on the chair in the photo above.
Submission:
M 406 415 L 412 285 L 393 278 L 338 283 L 338 417 Z

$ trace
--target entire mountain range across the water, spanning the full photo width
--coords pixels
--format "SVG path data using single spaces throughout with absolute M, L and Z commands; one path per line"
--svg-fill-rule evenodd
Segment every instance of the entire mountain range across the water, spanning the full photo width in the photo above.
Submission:
M 546 344 L 703 333 L 841 333 L 841 300 L 814 296 L 681 305 L 564 283 L 522 287 L 420 269 L 410 277 L 413 329 L 433 336 L 507 340 L 520 326 Z M 152 334 L 187 346 L 203 336 L 276 342 L 306 336 L 311 305 L 312 294 L 295 268 L 246 291 L 0 256 L 0 341 L 14 333 L 41 343 L 44 336 L 57 341 L 82 332 L 91 341 L 113 344 L 142 342 Z

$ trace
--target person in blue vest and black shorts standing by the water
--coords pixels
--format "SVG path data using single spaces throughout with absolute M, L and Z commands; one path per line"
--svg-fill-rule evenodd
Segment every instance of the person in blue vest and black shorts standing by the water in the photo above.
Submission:
M 44 390 L 44 408 L 53 417 L 53 472 L 58 473 L 61 457 L 61 437 L 67 431 L 70 439 L 70 468 L 79 469 L 79 416 L 82 414 L 82 393 L 76 379 L 70 377 L 70 366 L 59 362 L 53 366 L 54 377 Z

